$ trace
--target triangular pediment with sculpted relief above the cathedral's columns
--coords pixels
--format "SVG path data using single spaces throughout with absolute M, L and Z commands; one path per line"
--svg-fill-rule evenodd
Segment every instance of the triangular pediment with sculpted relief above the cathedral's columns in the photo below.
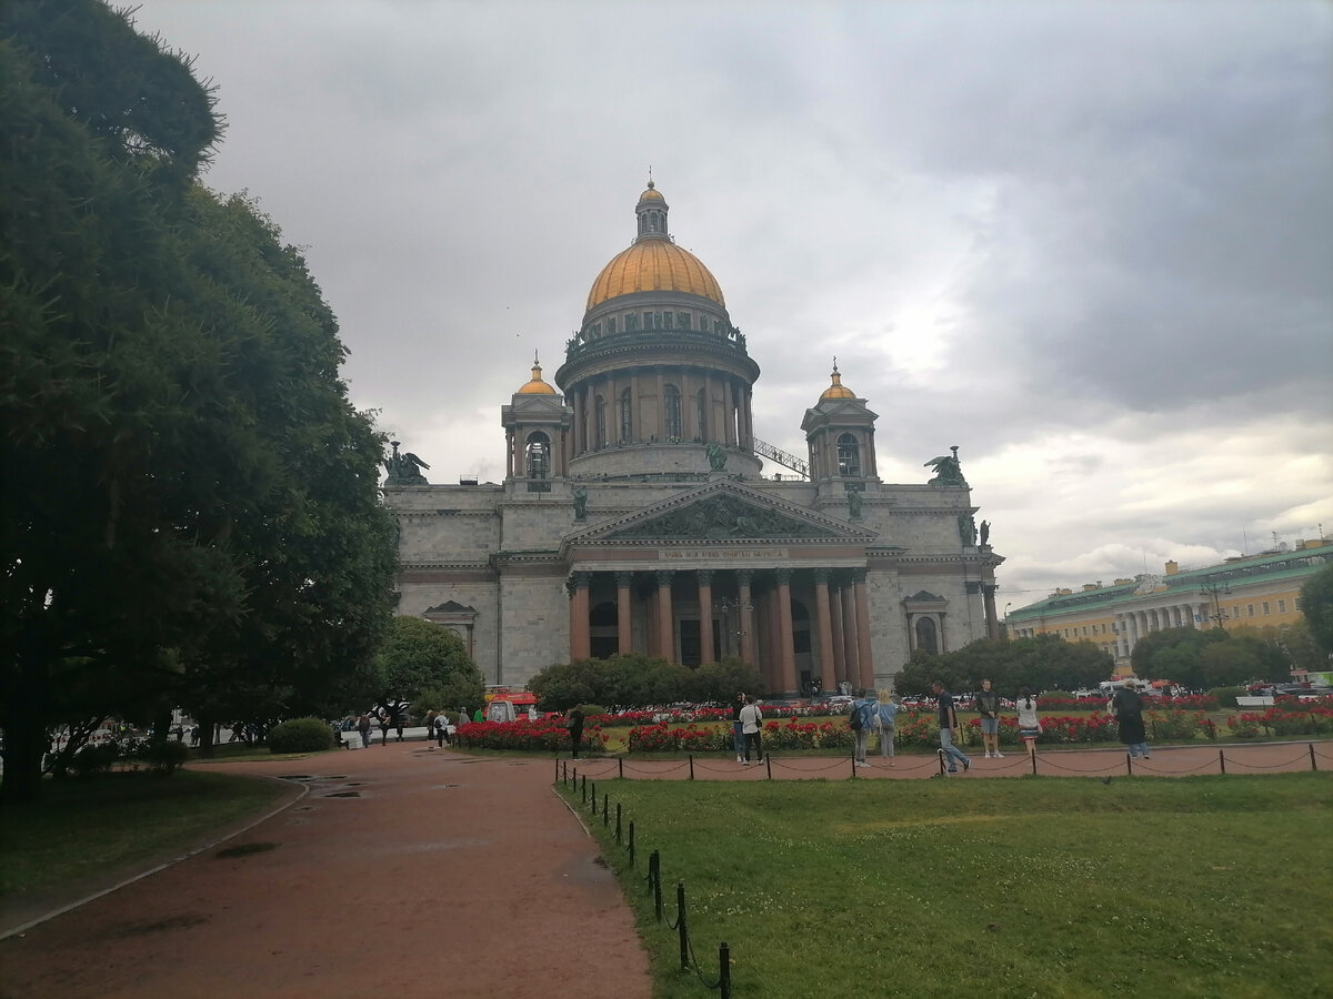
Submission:
M 567 537 L 568 545 L 663 541 L 833 541 L 866 543 L 876 535 L 854 525 L 764 496 L 733 482 L 653 503 Z

